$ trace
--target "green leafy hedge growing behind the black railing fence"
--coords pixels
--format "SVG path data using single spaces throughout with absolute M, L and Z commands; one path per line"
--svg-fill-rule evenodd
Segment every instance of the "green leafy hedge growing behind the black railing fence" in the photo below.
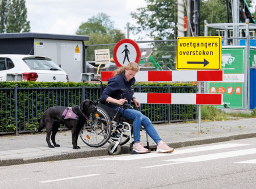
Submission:
M 106 83 L 104 83 L 106 85 Z M 179 86 L 192 86 L 189 83 L 166 82 L 140 82 L 141 92 L 187 92 Z M 99 83 L 74 83 L 74 82 L 0 82 L 0 132 L 13 132 L 16 129 L 15 99 L 13 88 L 36 88 L 37 90 L 17 90 L 17 128 L 18 132 L 37 130 L 41 115 L 52 106 L 73 106 L 81 101 L 81 87 L 85 87 L 85 99 L 99 99 Z M 147 88 L 148 86 L 148 88 Z M 158 86 L 162 86 L 158 88 Z M 172 88 L 174 86 L 174 88 Z M 72 88 L 72 89 L 47 89 L 40 88 Z M 74 89 L 73 89 L 74 88 Z M 8 89 L 8 90 L 5 90 Z M 195 88 L 194 88 L 195 89 Z M 41 91 L 41 92 L 40 92 Z M 138 91 L 138 88 L 135 89 Z M 192 90 L 190 92 L 193 92 Z M 45 99 L 45 100 L 44 100 Z M 195 106 L 191 105 L 166 105 L 143 104 L 141 112 L 150 117 L 153 122 L 166 120 L 168 110 L 172 111 L 172 120 L 193 118 Z

